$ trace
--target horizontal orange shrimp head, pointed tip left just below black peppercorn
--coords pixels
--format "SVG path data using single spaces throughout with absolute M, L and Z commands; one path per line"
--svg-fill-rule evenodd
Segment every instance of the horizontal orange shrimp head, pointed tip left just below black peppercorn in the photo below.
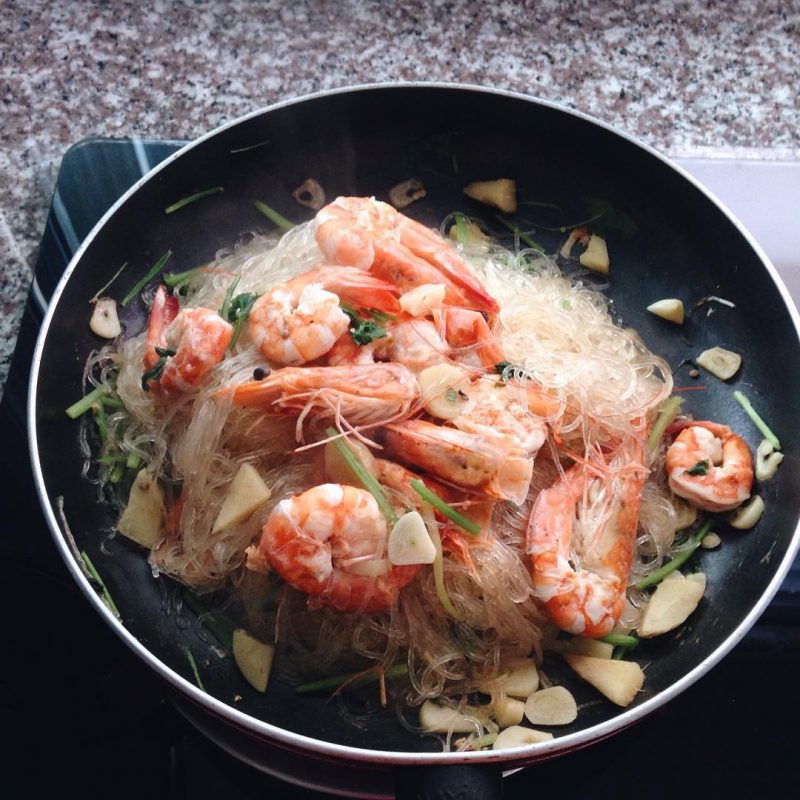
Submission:
M 417 379 L 402 364 L 284 367 L 233 389 L 233 402 L 316 419 L 344 417 L 352 425 L 407 414 L 419 397 Z

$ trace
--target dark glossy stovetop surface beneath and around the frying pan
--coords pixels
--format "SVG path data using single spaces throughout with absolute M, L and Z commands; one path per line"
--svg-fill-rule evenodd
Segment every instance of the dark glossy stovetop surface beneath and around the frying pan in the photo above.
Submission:
M 0 709 L 12 742 L 4 745 L 3 795 L 11 786 L 36 796 L 37 789 L 55 782 L 67 790 L 110 789 L 116 798 L 328 796 L 257 772 L 184 720 L 159 679 L 85 602 L 53 546 L 33 488 L 25 434 L 27 381 L 47 300 L 97 219 L 181 144 L 92 140 L 73 147 L 59 173 L 0 408 L 0 507 L 6 514 L 0 608 L 7 633 Z M 800 203 L 800 164 L 778 170 L 758 162 L 686 159 L 682 165 L 762 237 L 800 299 L 800 256 L 791 241 L 770 233 L 794 231 L 788 215 Z M 772 215 L 764 213 L 769 202 Z M 759 622 L 710 674 L 610 740 L 507 777 L 507 795 L 740 797 L 784 790 L 794 782 L 792 731 L 800 708 L 798 591 L 796 564 Z

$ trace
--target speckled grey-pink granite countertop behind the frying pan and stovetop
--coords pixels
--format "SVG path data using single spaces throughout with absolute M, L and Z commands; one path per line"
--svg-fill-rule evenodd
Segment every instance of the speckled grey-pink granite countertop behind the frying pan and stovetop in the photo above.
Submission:
M 89 136 L 190 139 L 357 83 L 512 89 L 669 154 L 800 151 L 800 4 L 6 0 L 0 386 L 58 163 Z

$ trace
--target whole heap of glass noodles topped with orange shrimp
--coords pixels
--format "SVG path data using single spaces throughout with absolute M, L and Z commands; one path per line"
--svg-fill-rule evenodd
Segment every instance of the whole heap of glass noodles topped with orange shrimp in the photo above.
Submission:
M 404 707 L 496 732 L 514 664 L 635 630 L 631 587 L 689 546 L 647 441 L 668 365 L 542 253 L 339 198 L 144 300 L 86 365 L 98 483 L 158 482 L 154 570 L 226 597 L 286 680 L 401 665 Z

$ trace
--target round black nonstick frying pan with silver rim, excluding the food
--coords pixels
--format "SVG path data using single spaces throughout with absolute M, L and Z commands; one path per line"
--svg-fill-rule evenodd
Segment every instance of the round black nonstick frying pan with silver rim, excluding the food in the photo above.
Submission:
M 113 288 L 119 296 L 168 249 L 175 254 L 171 270 L 180 271 L 204 263 L 247 231 L 269 230 L 254 209 L 256 200 L 290 219 L 309 218 L 313 212 L 291 196 L 308 177 L 329 198 L 386 199 L 390 187 L 412 176 L 422 181 L 426 196 L 408 213 L 431 226 L 462 210 L 503 231 L 486 207 L 462 193 L 472 180 L 496 177 L 516 179 L 522 201 L 517 219 L 535 228 L 550 252 L 563 239 L 561 226 L 595 217 L 611 252 L 613 313 L 673 366 L 677 385 L 692 383 L 686 359 L 707 347 L 743 354 L 733 380 L 703 376 L 705 390 L 687 392 L 685 408 L 696 418 L 729 424 L 755 449 L 761 437 L 732 397 L 740 388 L 784 433 L 785 461 L 759 489 L 767 510 L 758 526 L 741 534 L 720 522 L 724 546 L 695 557 L 708 576 L 700 607 L 678 635 L 636 651 L 636 660 L 649 666 L 634 704 L 623 710 L 596 702 L 594 690 L 557 661 L 548 663 L 548 674 L 588 705 L 551 742 L 515 750 L 444 753 L 438 740 L 398 724 L 391 710 L 343 713 L 325 698 L 298 697 L 277 679 L 266 695 L 252 691 L 232 659 L 220 658 L 198 635 L 191 612 L 178 610 L 177 587 L 155 579 L 141 551 L 109 536 L 114 514 L 81 477 L 80 425 L 64 414 L 83 393 L 82 367 L 98 346 L 87 325 L 88 300 L 120 264 L 130 266 Z M 216 186 L 224 191 L 164 213 L 177 199 Z M 645 311 L 664 297 L 680 297 L 693 309 L 681 328 Z M 700 302 L 708 297 L 733 306 Z M 125 310 L 129 334 L 142 329 L 145 314 L 137 303 Z M 552 104 L 476 87 L 399 84 L 327 92 L 257 111 L 183 148 L 133 186 L 75 254 L 55 292 L 33 362 L 29 433 L 45 516 L 75 580 L 117 635 L 167 682 L 184 713 L 213 738 L 306 784 L 313 783 L 315 769 L 333 764 L 342 774 L 346 767 L 365 776 L 394 772 L 398 791 L 408 796 L 422 791 L 418 781 L 435 796 L 438 789 L 431 787 L 442 779 L 445 791 L 463 781 L 464 792 L 487 797 L 497 790 L 501 770 L 585 747 L 652 713 L 717 663 L 766 608 L 800 543 L 797 450 L 788 437 L 798 397 L 798 316 L 788 292 L 742 226 L 683 171 L 608 126 Z M 65 521 L 77 548 L 102 574 L 121 622 L 79 568 Z M 194 683 L 185 646 L 201 664 L 206 691 Z M 384 791 L 370 786 L 365 777 L 363 796 Z

